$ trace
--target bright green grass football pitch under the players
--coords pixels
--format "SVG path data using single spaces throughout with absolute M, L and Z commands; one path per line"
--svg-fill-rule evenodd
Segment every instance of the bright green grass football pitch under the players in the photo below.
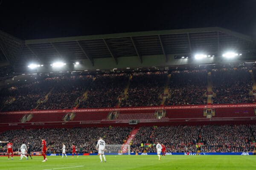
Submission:
M 79 156 L 79 158 L 61 158 L 48 156 L 46 162 L 42 156 L 33 159 L 14 160 L 0 157 L 0 170 L 248 170 L 255 169 L 256 156 L 173 156 L 158 160 L 151 156 L 113 156 L 106 155 L 107 162 L 100 163 L 99 156 Z

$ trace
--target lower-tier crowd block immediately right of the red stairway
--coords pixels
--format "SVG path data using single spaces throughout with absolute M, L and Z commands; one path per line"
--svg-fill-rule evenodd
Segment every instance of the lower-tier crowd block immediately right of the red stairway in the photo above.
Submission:
M 166 146 L 166 152 L 195 152 L 199 129 L 197 126 L 140 127 L 132 144 L 132 151 L 156 152 L 155 144 L 160 142 Z M 143 134 L 146 135 L 142 136 Z

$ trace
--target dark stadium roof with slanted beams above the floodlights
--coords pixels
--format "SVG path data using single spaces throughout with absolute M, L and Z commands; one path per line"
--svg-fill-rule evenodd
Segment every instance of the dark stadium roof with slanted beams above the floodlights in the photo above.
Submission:
M 0 32 L 0 60 L 27 65 L 28 61 L 50 62 L 53 58 L 68 61 L 112 57 L 168 54 L 192 54 L 195 51 L 220 52 L 226 48 L 246 51 L 255 48 L 252 37 L 224 28 L 192 28 L 143 31 L 121 34 L 19 40 Z M 167 59 L 167 57 L 166 57 Z

